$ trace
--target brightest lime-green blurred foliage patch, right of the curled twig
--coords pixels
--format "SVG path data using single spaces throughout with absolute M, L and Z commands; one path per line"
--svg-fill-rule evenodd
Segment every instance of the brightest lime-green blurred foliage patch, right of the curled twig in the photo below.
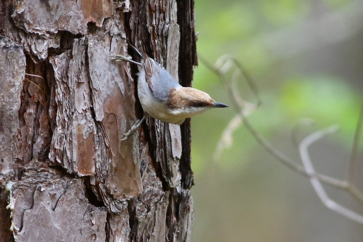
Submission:
M 351 145 L 362 101 L 358 90 L 334 77 L 315 76 L 286 80 L 281 91 L 280 103 L 285 116 L 309 117 L 320 126 L 338 124 L 338 140 L 342 145 Z

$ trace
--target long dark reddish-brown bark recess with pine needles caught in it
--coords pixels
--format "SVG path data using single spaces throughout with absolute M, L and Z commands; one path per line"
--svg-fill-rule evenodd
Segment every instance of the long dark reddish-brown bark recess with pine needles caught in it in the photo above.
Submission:
M 28 164 L 34 157 L 46 160 L 52 134 L 49 119 L 50 87 L 47 79 L 48 64 L 34 62 L 34 56 L 25 54 L 25 76 L 21 90 L 19 115 L 19 135 L 21 161 L 18 167 Z

